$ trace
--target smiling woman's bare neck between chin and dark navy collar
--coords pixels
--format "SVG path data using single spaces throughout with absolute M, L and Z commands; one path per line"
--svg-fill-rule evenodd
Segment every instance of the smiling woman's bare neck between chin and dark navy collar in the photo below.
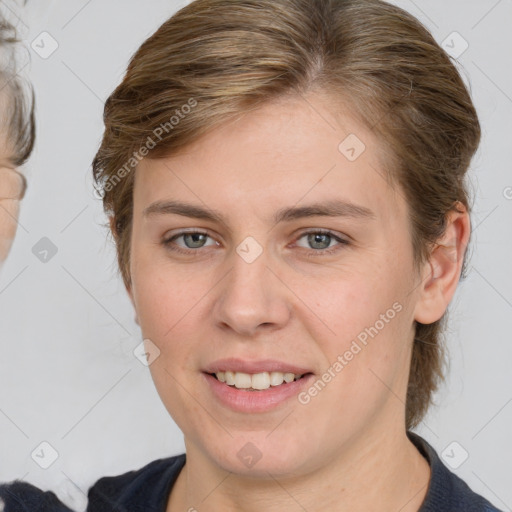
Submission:
M 291 477 L 256 479 L 222 470 L 194 445 L 171 493 L 167 512 L 417 512 L 430 467 L 403 432 L 364 433 L 321 468 Z

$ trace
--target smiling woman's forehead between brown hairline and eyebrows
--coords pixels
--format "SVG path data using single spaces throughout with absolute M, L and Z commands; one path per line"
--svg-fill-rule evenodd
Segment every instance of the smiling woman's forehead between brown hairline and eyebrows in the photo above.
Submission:
M 178 154 L 143 160 L 135 210 L 179 199 L 265 210 L 270 219 L 283 205 L 339 198 L 389 217 L 404 205 L 385 175 L 379 141 L 360 122 L 324 97 L 293 97 L 226 122 Z

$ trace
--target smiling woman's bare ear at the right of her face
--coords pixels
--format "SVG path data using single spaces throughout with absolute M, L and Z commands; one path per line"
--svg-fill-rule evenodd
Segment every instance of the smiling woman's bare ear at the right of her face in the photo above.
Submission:
M 459 201 L 446 218 L 446 230 L 425 263 L 414 319 L 422 324 L 439 320 L 450 303 L 460 279 L 471 223 L 466 207 Z

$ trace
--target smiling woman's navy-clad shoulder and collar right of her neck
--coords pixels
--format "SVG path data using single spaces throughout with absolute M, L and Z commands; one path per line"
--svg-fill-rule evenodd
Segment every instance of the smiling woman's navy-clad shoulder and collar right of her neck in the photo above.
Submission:
M 444 465 L 435 449 L 422 437 L 407 436 L 430 465 L 430 484 L 419 512 L 501 512 Z

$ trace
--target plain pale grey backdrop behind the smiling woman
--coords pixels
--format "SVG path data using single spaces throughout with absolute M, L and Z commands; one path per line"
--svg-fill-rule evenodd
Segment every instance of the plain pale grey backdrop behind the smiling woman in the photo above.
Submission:
M 470 172 L 469 275 L 449 313 L 450 372 L 417 431 L 439 454 L 459 462 L 467 454 L 453 471 L 510 511 L 512 3 L 396 3 L 453 52 L 468 45 L 457 65 L 483 128 Z M 104 100 L 133 52 L 184 3 L 2 4 L 37 49 L 29 49 L 24 71 L 37 95 L 38 138 L 18 235 L 0 275 L 0 480 L 23 478 L 82 510 L 98 477 L 184 450 L 149 370 L 133 355 L 141 335 L 90 176 Z M 49 250 L 48 261 L 37 244 Z M 43 469 L 38 453 L 46 462 L 57 458 Z

